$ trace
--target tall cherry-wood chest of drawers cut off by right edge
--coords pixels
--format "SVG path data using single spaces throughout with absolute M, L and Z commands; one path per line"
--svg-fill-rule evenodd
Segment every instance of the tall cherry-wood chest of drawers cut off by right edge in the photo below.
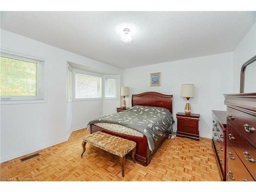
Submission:
M 256 93 L 227 94 L 227 181 L 256 179 Z

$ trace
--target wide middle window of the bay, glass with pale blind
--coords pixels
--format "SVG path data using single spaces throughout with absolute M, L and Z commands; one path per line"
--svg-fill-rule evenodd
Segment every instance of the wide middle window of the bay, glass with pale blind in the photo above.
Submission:
M 75 98 L 101 98 L 101 77 L 76 73 Z

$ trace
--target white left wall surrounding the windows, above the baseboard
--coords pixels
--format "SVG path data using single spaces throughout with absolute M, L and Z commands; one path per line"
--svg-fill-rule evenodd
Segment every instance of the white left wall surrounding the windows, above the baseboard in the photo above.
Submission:
M 103 112 L 102 100 L 67 102 L 67 61 L 121 74 L 119 68 L 5 30 L 1 49 L 44 58 L 48 82 L 45 103 L 1 105 L 1 162 L 65 141 L 73 129 Z

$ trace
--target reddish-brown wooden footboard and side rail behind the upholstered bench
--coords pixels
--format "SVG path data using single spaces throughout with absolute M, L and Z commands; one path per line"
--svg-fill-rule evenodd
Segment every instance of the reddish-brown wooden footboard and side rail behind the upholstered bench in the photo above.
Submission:
M 117 137 L 121 137 L 121 138 L 136 142 L 137 150 L 136 150 L 136 154 L 135 154 L 135 159 L 138 161 L 139 164 L 141 164 L 143 166 L 147 166 L 148 164 L 150 164 L 153 154 L 157 151 L 157 148 L 159 146 L 161 146 L 161 144 L 164 142 L 164 140 L 168 137 L 168 133 L 166 132 L 166 133 L 164 133 L 164 135 L 162 137 L 158 138 L 158 140 L 155 142 L 155 148 L 153 150 L 153 153 L 151 153 L 150 149 L 148 148 L 147 138 L 145 136 L 137 137 L 137 136 L 116 133 L 116 132 L 112 132 L 112 131 L 103 129 L 102 127 L 96 126 L 94 124 L 91 124 L 90 128 L 91 128 L 91 131 L 90 131 L 91 134 L 94 132 L 100 131 L 103 133 L 107 133 L 110 135 L 114 135 Z

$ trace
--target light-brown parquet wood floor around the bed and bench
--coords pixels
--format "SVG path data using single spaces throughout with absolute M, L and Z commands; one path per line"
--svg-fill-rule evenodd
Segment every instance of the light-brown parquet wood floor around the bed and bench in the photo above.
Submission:
M 69 140 L 37 153 L 39 157 L 20 162 L 19 157 L 0 164 L 0 181 L 220 181 L 218 165 L 210 139 L 167 139 L 144 167 L 125 161 L 121 175 L 119 158 L 87 145 L 83 158 L 82 136 L 86 130 L 72 133 Z M 33 153 L 34 154 L 34 153 Z

